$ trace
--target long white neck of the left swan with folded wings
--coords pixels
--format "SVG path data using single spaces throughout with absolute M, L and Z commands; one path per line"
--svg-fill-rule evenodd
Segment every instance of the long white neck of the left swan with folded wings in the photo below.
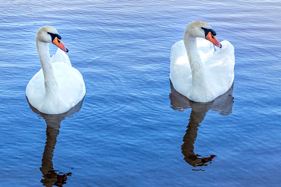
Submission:
M 36 39 L 36 46 L 44 74 L 45 96 L 59 93 L 59 86 L 56 82 L 50 59 L 49 43 L 41 42 Z

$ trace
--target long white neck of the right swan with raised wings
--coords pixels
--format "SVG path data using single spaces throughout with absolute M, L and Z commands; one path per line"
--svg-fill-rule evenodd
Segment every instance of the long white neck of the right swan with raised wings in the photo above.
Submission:
M 185 31 L 183 42 L 185 44 L 191 68 L 192 90 L 201 90 L 202 92 L 210 90 L 199 51 L 197 49 L 196 37 L 190 36 L 188 31 Z

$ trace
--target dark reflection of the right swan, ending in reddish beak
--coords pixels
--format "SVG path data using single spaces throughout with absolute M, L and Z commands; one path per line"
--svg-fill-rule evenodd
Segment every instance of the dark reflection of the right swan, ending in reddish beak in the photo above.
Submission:
M 194 153 L 194 143 L 197 138 L 198 127 L 201 126 L 200 123 L 202 123 L 209 110 L 216 111 L 223 116 L 231 114 L 234 102 L 234 97 L 232 97 L 234 83 L 226 93 L 220 95 L 219 97 L 214 99 L 214 101 L 210 101 L 208 103 L 198 103 L 191 101 L 184 95 L 181 95 L 179 92 L 177 92 L 174 89 L 171 81 L 170 86 L 171 93 L 169 95 L 169 98 L 171 100 L 171 108 L 178 111 L 184 111 L 185 109 L 191 108 L 187 130 L 185 131 L 186 133 L 183 136 L 184 143 L 181 146 L 184 160 L 193 167 L 207 166 L 207 163 L 211 163 L 212 159 L 214 159 L 216 155 L 210 155 L 209 157 L 205 158 Z M 199 170 L 204 171 L 202 169 L 197 169 L 195 171 Z

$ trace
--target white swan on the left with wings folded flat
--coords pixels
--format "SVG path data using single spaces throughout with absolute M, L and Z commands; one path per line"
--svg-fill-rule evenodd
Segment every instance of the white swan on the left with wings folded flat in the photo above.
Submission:
M 59 47 L 52 58 L 49 43 Z M 30 79 L 25 91 L 26 97 L 42 113 L 67 112 L 86 94 L 83 77 L 71 66 L 65 54 L 68 49 L 61 42 L 61 36 L 54 27 L 46 25 L 38 29 L 36 46 L 42 68 Z

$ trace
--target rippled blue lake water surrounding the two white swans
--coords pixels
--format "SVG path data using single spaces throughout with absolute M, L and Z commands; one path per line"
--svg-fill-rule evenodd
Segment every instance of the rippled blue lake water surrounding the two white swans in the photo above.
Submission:
M 2 0 L 0 186 L 280 186 L 280 12 L 265 0 Z M 169 82 L 171 46 L 194 20 L 235 47 L 233 87 L 205 104 Z M 66 114 L 25 98 L 44 25 L 86 85 Z

